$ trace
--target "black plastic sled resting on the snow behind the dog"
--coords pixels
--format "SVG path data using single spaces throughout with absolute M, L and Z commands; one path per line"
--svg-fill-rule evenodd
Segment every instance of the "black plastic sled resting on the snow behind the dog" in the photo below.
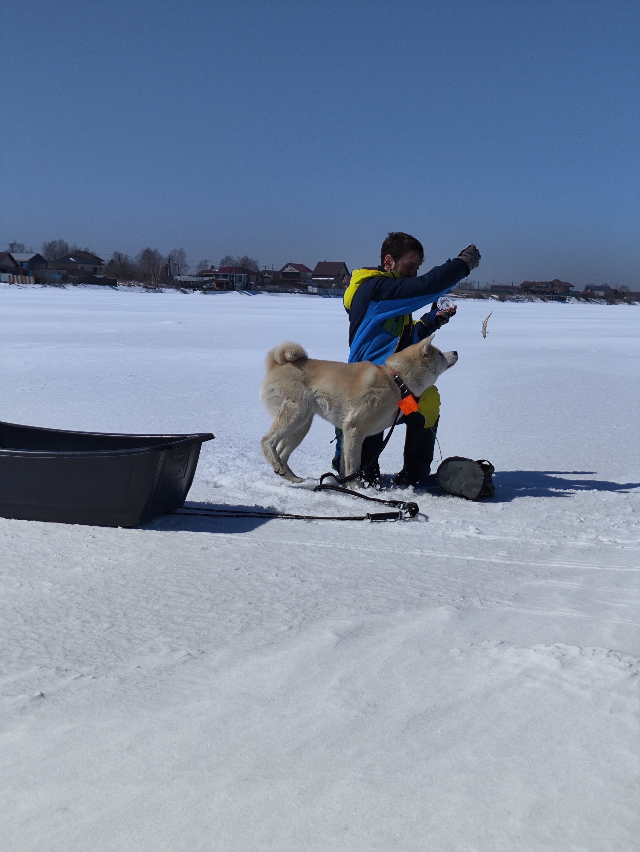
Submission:
M 193 482 L 197 435 L 110 435 L 0 421 L 0 517 L 136 527 L 178 509 Z

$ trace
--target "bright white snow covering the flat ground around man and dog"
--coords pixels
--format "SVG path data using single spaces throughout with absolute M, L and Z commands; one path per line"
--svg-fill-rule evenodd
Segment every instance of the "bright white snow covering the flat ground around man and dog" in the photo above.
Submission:
M 0 519 L 2 849 L 637 849 L 639 328 L 635 306 L 459 303 L 439 437 L 493 462 L 486 502 Z M 353 514 L 311 492 L 329 424 L 302 485 L 262 458 L 284 339 L 345 360 L 341 303 L 2 286 L 0 419 L 211 430 L 190 500 Z

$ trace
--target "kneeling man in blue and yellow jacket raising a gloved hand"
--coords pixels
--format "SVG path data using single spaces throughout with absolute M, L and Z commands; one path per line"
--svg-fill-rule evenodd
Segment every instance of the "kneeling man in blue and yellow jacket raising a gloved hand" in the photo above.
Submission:
M 392 231 L 380 251 L 380 266 L 355 269 L 344 293 L 344 308 L 349 314 L 349 363 L 372 361 L 383 364 L 390 354 L 429 337 L 455 314 L 456 307 L 438 310 L 437 301 L 466 278 L 480 262 L 480 252 L 468 245 L 455 260 L 418 276 L 424 261 L 424 249 L 408 233 Z M 412 311 L 434 302 L 431 310 L 413 321 Z M 396 485 L 418 485 L 430 474 L 435 431 L 440 417 L 440 394 L 435 385 L 427 388 L 418 402 L 419 411 L 402 415 L 406 423 L 404 464 L 395 477 Z M 334 469 L 340 469 L 342 432 L 336 429 L 337 450 Z M 383 433 L 371 435 L 362 445 L 360 468 L 378 452 Z M 369 485 L 380 481 L 378 461 L 366 471 Z

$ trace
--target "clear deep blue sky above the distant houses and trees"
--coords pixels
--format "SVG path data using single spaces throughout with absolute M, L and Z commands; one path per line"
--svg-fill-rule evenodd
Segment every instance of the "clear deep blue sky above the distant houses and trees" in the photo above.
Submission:
M 639 289 L 639 10 L 5 0 L 0 242 Z

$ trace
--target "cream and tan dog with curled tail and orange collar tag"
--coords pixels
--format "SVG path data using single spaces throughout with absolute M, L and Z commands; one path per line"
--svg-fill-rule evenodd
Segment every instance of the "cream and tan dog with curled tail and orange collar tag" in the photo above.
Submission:
M 307 435 L 314 414 L 343 430 L 340 475 L 359 470 L 362 441 L 395 420 L 402 394 L 394 373 L 419 397 L 458 360 L 457 352 L 442 353 L 432 346 L 433 337 L 389 355 L 385 365 L 314 360 L 298 343 L 271 349 L 260 399 L 274 422 L 260 446 L 274 471 L 291 482 L 303 481 L 288 461 Z

